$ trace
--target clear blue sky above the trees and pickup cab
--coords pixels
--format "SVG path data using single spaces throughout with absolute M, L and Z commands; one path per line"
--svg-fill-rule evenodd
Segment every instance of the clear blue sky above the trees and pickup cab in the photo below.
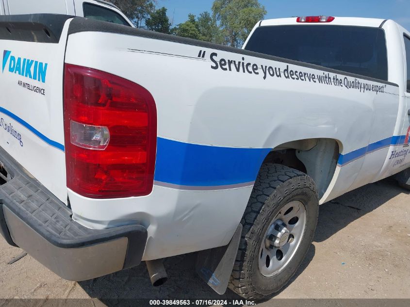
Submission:
M 410 0 L 259 0 L 266 8 L 264 19 L 292 16 L 341 16 L 393 19 L 410 31 Z M 157 0 L 166 7 L 173 26 L 189 13 L 210 11 L 213 0 Z

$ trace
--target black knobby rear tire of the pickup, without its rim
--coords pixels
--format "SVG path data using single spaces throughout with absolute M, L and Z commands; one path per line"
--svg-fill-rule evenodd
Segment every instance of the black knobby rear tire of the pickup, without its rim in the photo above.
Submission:
M 262 237 L 279 210 L 293 200 L 301 201 L 306 209 L 302 240 L 289 263 L 278 274 L 265 277 L 258 267 Z M 312 178 L 280 164 L 263 164 L 241 221 L 242 237 L 228 287 L 250 299 L 266 298 L 279 291 L 305 258 L 318 214 L 319 200 Z

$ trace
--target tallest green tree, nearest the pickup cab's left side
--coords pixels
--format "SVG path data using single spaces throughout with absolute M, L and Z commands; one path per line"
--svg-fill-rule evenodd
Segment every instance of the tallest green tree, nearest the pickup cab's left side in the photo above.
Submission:
M 255 24 L 266 15 L 258 0 L 215 0 L 213 17 L 223 31 L 225 44 L 241 47 Z

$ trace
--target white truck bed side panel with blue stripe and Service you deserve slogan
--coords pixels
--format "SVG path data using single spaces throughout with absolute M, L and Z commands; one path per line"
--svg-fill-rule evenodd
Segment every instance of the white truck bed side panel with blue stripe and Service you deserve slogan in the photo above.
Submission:
M 158 110 L 158 147 L 150 195 L 97 202 L 69 191 L 73 218 L 90 227 L 145 221 L 145 260 L 227 244 L 260 163 L 280 144 L 337 140 L 341 157 L 333 196 L 354 185 L 366 159 L 374 168 L 360 180 L 369 182 L 387 156 L 384 143 L 393 137 L 398 109 L 395 84 L 193 40 L 76 22 L 66 63 L 148 89 Z M 303 80 L 291 78 L 291 70 L 294 78 L 295 71 L 302 72 Z M 324 76 L 341 83 L 319 81 Z

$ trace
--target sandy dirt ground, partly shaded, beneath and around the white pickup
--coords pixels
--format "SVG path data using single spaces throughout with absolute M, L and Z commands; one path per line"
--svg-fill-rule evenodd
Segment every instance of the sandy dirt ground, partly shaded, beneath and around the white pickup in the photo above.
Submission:
M 322 205 L 303 265 L 275 298 L 410 298 L 409 213 L 409 191 L 390 179 Z M 7 264 L 21 253 L 0 239 L 0 298 L 91 297 L 101 303 L 118 298 L 238 298 L 230 290 L 219 296 L 203 283 L 193 270 L 193 254 L 166 259 L 169 281 L 153 288 L 143 263 L 112 275 L 71 282 L 29 255 Z

